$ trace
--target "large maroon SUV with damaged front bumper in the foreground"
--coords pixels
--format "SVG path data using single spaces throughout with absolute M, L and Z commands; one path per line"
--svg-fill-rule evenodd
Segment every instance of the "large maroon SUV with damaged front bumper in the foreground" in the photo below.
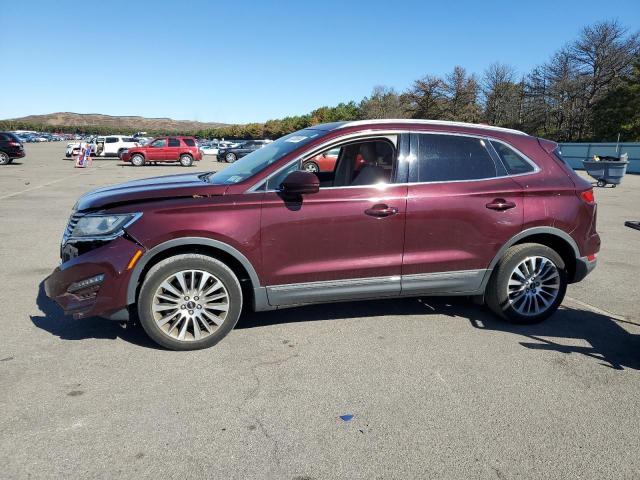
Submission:
M 331 171 L 303 169 L 334 149 Z M 76 318 L 139 318 L 159 344 L 189 350 L 220 341 L 243 307 L 465 295 L 537 322 L 599 248 L 592 187 L 553 142 L 451 122 L 343 122 L 220 172 L 85 194 L 45 286 Z

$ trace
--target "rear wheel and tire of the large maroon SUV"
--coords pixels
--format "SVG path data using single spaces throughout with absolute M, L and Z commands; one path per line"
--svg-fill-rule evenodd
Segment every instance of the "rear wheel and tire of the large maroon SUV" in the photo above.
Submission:
M 529 275 L 532 266 L 534 274 Z M 567 271 L 558 252 L 538 243 L 523 243 L 509 248 L 498 262 L 485 297 L 499 317 L 511 323 L 531 324 L 552 315 L 566 290 Z

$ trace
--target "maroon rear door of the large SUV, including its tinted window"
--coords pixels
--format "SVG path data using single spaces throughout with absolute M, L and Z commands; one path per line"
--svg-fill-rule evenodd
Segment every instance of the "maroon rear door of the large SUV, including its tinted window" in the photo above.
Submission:
M 402 292 L 471 292 L 522 229 L 523 195 L 488 139 L 411 136 Z

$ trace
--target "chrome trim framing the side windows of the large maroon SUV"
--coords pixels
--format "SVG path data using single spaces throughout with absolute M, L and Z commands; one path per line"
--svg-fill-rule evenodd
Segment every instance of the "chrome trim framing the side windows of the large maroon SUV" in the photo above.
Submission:
M 412 121 L 412 122 L 415 122 L 415 121 Z M 385 122 L 379 122 L 379 123 L 385 123 Z M 411 122 L 406 122 L 406 123 L 411 123 Z M 429 125 L 436 125 L 436 124 L 435 123 L 429 123 Z M 458 122 L 437 123 L 437 125 L 456 125 L 457 126 Z M 473 125 L 473 124 L 463 124 L 463 125 Z M 482 126 L 480 125 L 479 127 L 482 127 Z M 340 128 L 343 128 L 343 127 L 338 127 L 338 129 L 340 129 Z M 493 129 L 498 129 L 499 127 L 492 127 L 492 128 Z M 508 129 L 503 129 L 503 130 L 508 130 Z M 342 143 L 342 141 L 344 141 L 344 140 L 350 140 L 350 139 L 356 139 L 356 138 L 384 137 L 385 135 L 401 135 L 401 134 L 410 134 L 410 135 L 411 134 L 417 134 L 417 135 L 454 135 L 454 136 L 459 136 L 459 137 L 479 138 L 481 140 L 485 140 L 490 145 L 491 151 L 494 152 L 495 155 L 496 155 L 496 158 L 498 158 L 498 160 L 500 160 L 500 162 L 502 162 L 502 159 L 500 158 L 500 155 L 498 154 L 498 152 L 496 152 L 495 148 L 493 148 L 493 145 L 491 145 L 491 142 L 499 142 L 499 143 L 502 143 L 503 145 L 506 145 L 507 147 L 511 148 L 514 152 L 516 152 L 518 155 L 520 155 L 522 158 L 524 158 L 525 161 L 527 163 L 529 163 L 533 167 L 533 171 L 532 172 L 526 172 L 526 173 L 509 174 L 507 169 L 506 169 L 506 167 L 504 167 L 504 164 L 503 164 L 503 167 L 504 167 L 505 171 L 507 171 L 507 174 L 506 175 L 496 176 L 496 177 L 476 178 L 476 179 L 467 179 L 467 180 L 444 180 L 444 181 L 433 181 L 433 182 L 388 183 L 388 184 L 384 184 L 384 185 L 388 185 L 388 186 L 408 185 L 408 186 L 411 186 L 411 185 L 430 185 L 430 184 L 434 184 L 434 183 L 443 184 L 443 183 L 461 183 L 461 182 L 482 182 L 482 181 L 487 181 L 487 180 L 523 177 L 523 176 L 526 176 L 526 175 L 535 175 L 535 174 L 540 173 L 542 171 L 542 168 L 540 168 L 537 163 L 535 163 L 533 160 L 531 160 L 527 155 L 522 153 L 516 147 L 514 147 L 513 145 L 511 145 L 508 142 L 505 142 L 503 140 L 491 137 L 489 135 L 479 135 L 479 134 L 468 133 L 468 132 L 427 132 L 427 131 L 416 131 L 416 130 L 405 130 L 405 129 L 400 129 L 400 130 L 394 130 L 394 129 L 390 129 L 390 130 L 363 130 L 361 132 L 356 132 L 356 133 L 345 135 L 345 136 L 342 136 L 342 137 L 339 137 L 339 138 L 334 138 L 332 140 L 329 140 L 327 142 L 324 142 L 324 143 L 318 145 L 317 147 L 315 147 L 310 152 L 306 152 L 305 154 L 296 157 L 294 160 L 290 161 L 289 163 L 287 163 L 286 165 L 282 166 L 281 168 L 279 168 L 275 172 L 271 173 L 271 175 L 269 175 L 267 178 L 261 180 L 260 182 L 255 183 L 248 190 L 246 190 L 245 193 L 272 193 L 272 192 L 277 192 L 277 190 L 267 190 L 266 188 L 265 189 L 260 189 L 260 187 L 263 184 L 266 185 L 266 183 L 269 181 L 269 179 L 271 177 L 274 177 L 275 175 L 279 174 L 280 172 L 282 172 L 286 168 L 288 168 L 291 165 L 293 165 L 295 162 L 300 161 L 300 159 L 305 158 L 305 157 L 313 157 L 313 156 L 317 155 L 318 153 L 321 153 L 321 152 L 327 150 L 327 148 L 326 148 L 327 146 L 329 146 L 329 148 L 330 148 L 331 145 L 335 145 L 337 143 Z M 526 135 L 526 134 L 523 134 L 523 135 Z M 396 145 L 396 148 L 398 148 L 397 145 Z M 487 148 L 487 147 L 485 147 L 485 148 Z M 491 152 L 489 151 L 488 148 L 487 148 L 487 153 L 489 153 L 491 155 Z M 409 155 L 412 155 L 412 153 L 410 153 Z M 398 159 L 398 161 L 404 161 L 404 159 L 402 159 L 402 160 Z M 375 188 L 375 187 L 376 187 L 375 185 L 353 185 L 353 186 L 341 186 L 341 187 L 323 187 L 322 190 L 334 190 L 334 189 L 343 189 L 343 188 Z

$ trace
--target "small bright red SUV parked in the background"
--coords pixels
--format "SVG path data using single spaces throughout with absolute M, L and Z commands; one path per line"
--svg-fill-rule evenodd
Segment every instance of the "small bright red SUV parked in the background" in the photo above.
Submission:
M 156 162 L 180 162 L 190 167 L 194 160 L 202 160 L 202 152 L 193 137 L 158 137 L 142 147 L 125 150 L 120 158 L 136 167 Z

